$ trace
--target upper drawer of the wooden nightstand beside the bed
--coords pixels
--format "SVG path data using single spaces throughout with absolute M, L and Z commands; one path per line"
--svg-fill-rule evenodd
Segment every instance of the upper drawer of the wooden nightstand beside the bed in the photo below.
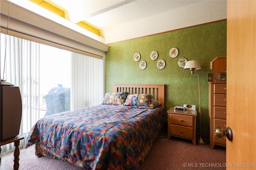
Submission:
M 193 116 L 170 114 L 170 123 L 193 127 Z

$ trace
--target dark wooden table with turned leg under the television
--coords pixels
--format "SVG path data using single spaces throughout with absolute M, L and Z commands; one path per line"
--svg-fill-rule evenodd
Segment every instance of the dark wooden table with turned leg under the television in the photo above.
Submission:
M 14 165 L 13 165 L 13 170 L 18 170 L 19 169 L 19 156 L 20 156 L 20 149 L 19 149 L 19 145 L 20 145 L 20 140 L 24 139 L 24 137 L 22 135 L 17 135 L 16 137 L 12 138 L 12 139 L 8 139 L 8 140 L 5 140 L 5 141 L 1 141 L 0 142 L 0 153 L 2 152 L 2 148 L 1 146 L 2 145 L 6 145 L 8 143 L 12 143 L 14 142 L 14 153 L 13 153 L 13 156 L 14 156 Z M 0 156 L 0 162 L 1 162 L 1 156 Z M 4 168 L 1 166 L 1 168 Z

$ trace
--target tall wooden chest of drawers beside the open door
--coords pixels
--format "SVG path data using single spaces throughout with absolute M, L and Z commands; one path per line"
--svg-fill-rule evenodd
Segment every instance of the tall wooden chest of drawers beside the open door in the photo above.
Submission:
M 214 145 L 226 147 L 226 136 L 218 138 L 214 129 L 221 127 L 226 131 L 226 94 L 227 85 L 225 82 L 209 83 L 209 121 L 210 121 L 210 149 Z

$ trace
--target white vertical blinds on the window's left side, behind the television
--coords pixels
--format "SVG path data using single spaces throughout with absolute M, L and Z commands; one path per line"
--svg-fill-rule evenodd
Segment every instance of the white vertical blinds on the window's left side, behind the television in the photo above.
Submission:
M 20 134 L 30 131 L 39 119 L 39 43 L 1 34 L 1 78 L 18 86 L 22 96 Z M 22 147 L 22 145 L 21 145 Z M 3 147 L 3 152 L 14 145 Z

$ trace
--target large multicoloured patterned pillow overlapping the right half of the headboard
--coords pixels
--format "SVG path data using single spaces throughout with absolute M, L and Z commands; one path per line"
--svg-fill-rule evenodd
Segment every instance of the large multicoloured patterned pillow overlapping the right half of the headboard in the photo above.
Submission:
M 150 94 L 129 94 L 124 106 L 132 106 L 138 109 L 150 109 L 152 96 Z

